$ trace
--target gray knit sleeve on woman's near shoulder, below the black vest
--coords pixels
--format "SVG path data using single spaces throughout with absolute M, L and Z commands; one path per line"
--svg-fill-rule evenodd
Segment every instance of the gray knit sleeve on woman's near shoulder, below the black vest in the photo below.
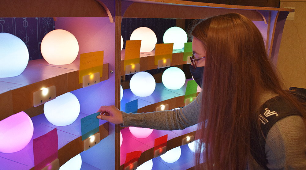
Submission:
M 265 145 L 269 169 L 306 169 L 306 128 L 297 115 L 279 120 L 270 129 Z

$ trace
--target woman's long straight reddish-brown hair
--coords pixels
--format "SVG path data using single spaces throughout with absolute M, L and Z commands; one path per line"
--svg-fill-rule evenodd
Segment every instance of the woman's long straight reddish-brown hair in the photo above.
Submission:
M 203 159 L 208 170 L 244 170 L 260 95 L 288 95 L 267 57 L 263 36 L 248 18 L 238 13 L 211 17 L 191 34 L 206 48 L 196 163 Z

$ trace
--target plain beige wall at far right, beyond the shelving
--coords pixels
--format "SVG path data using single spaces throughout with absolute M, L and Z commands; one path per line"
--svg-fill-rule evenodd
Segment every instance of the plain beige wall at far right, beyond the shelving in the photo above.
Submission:
M 277 69 L 289 87 L 306 88 L 306 0 L 281 0 L 281 8 L 295 8 L 294 19 L 286 20 Z

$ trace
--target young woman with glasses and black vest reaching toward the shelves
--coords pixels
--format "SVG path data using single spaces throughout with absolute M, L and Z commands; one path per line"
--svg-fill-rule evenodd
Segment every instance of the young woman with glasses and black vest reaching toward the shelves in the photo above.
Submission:
M 97 118 L 121 126 L 161 130 L 199 123 L 197 169 L 306 169 L 305 109 L 282 89 L 263 37 L 252 21 L 237 13 L 215 16 L 197 24 L 191 35 L 193 56 L 199 59 L 193 66 L 205 68 L 203 91 L 190 106 L 140 114 L 101 106 Z M 267 120 L 265 111 L 275 104 L 282 106 L 279 111 L 289 108 L 292 115 L 278 120 L 269 130 L 260 155 L 267 163 L 260 166 L 252 156 L 252 146 L 260 138 L 261 123 Z

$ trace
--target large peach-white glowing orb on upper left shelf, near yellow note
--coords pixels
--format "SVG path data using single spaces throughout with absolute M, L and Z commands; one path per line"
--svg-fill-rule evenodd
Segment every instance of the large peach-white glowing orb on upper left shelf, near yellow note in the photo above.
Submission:
M 72 33 L 55 29 L 43 37 L 40 50 L 49 64 L 71 64 L 79 53 L 79 43 Z

